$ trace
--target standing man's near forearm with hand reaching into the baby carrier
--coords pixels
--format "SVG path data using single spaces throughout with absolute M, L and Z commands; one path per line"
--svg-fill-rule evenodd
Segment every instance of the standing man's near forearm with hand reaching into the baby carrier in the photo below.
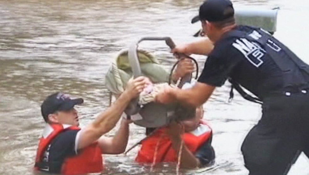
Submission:
M 155 97 L 155 101 L 163 104 L 180 102 L 184 105 L 198 107 L 208 100 L 214 89 L 215 86 L 200 82 L 185 90 L 168 87 Z

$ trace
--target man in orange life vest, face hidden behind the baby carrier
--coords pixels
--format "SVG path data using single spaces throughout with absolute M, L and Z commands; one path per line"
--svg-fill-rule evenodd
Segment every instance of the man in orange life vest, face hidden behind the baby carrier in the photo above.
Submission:
M 195 118 L 180 123 L 172 122 L 167 127 L 156 130 L 142 141 L 135 160 L 139 163 L 153 163 L 154 160 L 155 163 L 176 162 L 183 140 L 180 167 L 196 168 L 214 163 L 212 130 L 201 120 L 203 114 L 203 107 L 197 107 Z

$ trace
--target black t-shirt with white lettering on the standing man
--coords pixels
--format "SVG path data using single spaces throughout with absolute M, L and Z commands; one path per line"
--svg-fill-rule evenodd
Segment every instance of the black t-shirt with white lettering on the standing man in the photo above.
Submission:
M 235 30 L 251 33 L 255 29 L 238 26 Z M 222 86 L 228 77 L 260 98 L 282 88 L 281 70 L 260 45 L 223 36 L 214 45 L 198 81 Z

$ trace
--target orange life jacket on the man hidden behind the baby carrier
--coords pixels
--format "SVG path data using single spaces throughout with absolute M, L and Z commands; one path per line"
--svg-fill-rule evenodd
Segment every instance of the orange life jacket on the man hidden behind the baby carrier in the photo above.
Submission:
M 155 155 L 155 148 L 158 144 L 156 162 L 176 162 L 177 154 L 172 148 L 172 142 L 165 135 L 166 128 L 159 129 L 156 133 L 146 140 L 142 141 L 142 147 L 138 152 L 135 161 L 139 163 L 152 163 Z M 194 154 L 212 135 L 211 128 L 203 120 L 200 126 L 192 131 L 182 135 L 184 144 Z

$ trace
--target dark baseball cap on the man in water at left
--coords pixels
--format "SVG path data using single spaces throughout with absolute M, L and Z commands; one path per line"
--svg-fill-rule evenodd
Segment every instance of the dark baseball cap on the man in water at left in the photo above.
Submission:
M 69 95 L 57 92 L 49 95 L 41 105 L 42 116 L 47 122 L 48 115 L 53 114 L 56 111 L 70 110 L 75 105 L 82 104 L 83 98 L 71 99 Z

